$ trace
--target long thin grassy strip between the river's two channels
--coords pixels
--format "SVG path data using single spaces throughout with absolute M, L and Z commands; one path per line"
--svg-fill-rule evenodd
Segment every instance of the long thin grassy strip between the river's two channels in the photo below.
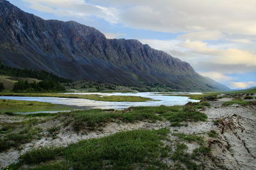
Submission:
M 95 101 L 120 101 L 120 102 L 145 102 L 152 101 L 152 99 L 140 96 L 100 96 L 97 94 L 58 94 L 58 93 L 14 93 L 14 92 L 0 92 L 0 96 L 27 96 L 27 97 L 65 97 L 90 99 Z

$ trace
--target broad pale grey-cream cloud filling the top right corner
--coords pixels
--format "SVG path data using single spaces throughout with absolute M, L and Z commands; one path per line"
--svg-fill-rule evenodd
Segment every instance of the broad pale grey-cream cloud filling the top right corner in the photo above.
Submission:
M 220 31 L 256 34 L 254 0 L 95 0 L 122 9 L 119 22 L 161 32 Z

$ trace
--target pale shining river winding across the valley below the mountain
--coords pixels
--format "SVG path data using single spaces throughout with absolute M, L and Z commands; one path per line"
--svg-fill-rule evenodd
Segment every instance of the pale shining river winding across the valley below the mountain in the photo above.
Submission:
M 164 96 L 158 92 L 138 92 L 138 93 L 67 93 L 67 94 L 99 94 L 101 96 L 141 96 L 147 97 L 156 101 L 145 101 L 145 102 L 109 102 L 109 101 L 93 101 L 89 99 L 72 99 L 72 98 L 61 98 L 61 97 L 16 97 L 16 96 L 0 96 L 0 99 L 12 99 L 21 101 L 40 101 L 52 104 L 64 104 L 67 106 L 86 106 L 86 108 L 99 108 L 99 109 L 115 109 L 123 110 L 131 106 L 174 106 L 184 105 L 188 102 L 198 102 L 189 97 L 182 96 Z M 177 94 L 202 94 L 200 92 L 173 92 L 173 95 Z M 165 94 L 166 95 L 166 94 Z M 40 112 L 42 113 L 42 111 Z M 52 113 L 52 112 L 44 112 Z

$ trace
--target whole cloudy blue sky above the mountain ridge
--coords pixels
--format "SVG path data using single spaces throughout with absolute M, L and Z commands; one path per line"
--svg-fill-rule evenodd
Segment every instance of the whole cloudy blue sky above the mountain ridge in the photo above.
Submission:
M 9 0 L 44 19 L 138 39 L 230 89 L 256 86 L 255 0 Z

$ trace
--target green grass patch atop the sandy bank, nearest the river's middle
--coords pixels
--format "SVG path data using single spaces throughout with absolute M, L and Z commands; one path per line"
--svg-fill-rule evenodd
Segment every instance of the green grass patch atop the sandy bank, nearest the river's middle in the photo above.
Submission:
M 56 117 L 72 125 L 75 131 L 92 131 L 104 127 L 107 122 L 138 122 L 169 120 L 170 122 L 198 122 L 207 120 L 207 115 L 198 111 L 184 111 L 184 106 L 141 106 L 124 111 L 84 110 L 57 113 Z M 182 124 L 186 125 L 186 124 Z

